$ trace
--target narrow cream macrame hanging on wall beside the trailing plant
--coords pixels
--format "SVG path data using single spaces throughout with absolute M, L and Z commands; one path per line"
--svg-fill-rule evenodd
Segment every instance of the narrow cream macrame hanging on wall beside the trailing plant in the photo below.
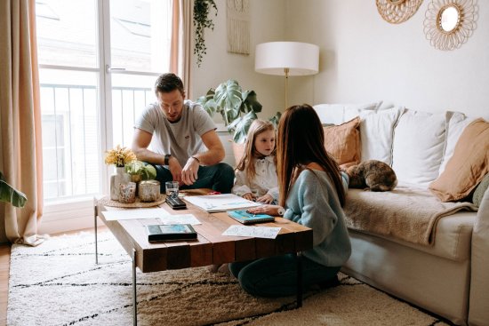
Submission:
M 228 52 L 250 54 L 250 1 L 228 0 Z

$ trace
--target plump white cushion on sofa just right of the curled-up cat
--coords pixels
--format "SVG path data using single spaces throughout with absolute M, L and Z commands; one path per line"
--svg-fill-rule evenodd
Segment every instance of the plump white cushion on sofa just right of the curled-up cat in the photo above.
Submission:
M 394 129 L 392 169 L 397 179 L 427 188 L 438 177 L 446 114 L 406 110 Z

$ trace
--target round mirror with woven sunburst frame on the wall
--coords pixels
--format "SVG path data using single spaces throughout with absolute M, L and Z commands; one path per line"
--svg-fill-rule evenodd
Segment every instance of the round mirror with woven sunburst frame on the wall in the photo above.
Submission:
M 472 35 L 476 20 L 477 5 L 472 0 L 431 0 L 424 34 L 438 50 L 458 49 Z

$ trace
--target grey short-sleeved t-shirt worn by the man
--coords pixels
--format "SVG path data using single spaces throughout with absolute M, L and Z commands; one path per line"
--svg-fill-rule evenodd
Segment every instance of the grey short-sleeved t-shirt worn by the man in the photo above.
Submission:
M 183 167 L 188 157 L 206 150 L 201 136 L 216 126 L 200 104 L 185 100 L 178 123 L 170 123 L 163 109 L 152 103 L 142 111 L 134 128 L 151 133 L 151 150 L 172 155 Z

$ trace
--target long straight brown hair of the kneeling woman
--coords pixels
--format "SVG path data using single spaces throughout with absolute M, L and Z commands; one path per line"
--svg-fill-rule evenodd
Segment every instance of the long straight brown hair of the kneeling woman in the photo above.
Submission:
M 325 170 L 343 206 L 345 190 L 340 168 L 325 150 L 325 133 L 319 116 L 307 104 L 289 107 L 278 123 L 277 173 L 281 206 L 285 206 L 295 179 L 309 163 L 317 163 Z

